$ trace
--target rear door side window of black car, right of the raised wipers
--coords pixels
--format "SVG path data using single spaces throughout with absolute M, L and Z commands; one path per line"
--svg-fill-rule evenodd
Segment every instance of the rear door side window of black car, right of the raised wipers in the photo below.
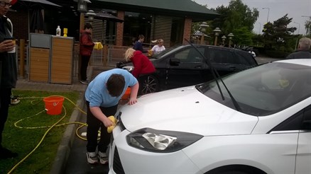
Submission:
M 209 57 L 212 63 L 219 64 L 240 64 L 239 59 L 234 59 L 232 52 L 229 50 L 209 49 Z

